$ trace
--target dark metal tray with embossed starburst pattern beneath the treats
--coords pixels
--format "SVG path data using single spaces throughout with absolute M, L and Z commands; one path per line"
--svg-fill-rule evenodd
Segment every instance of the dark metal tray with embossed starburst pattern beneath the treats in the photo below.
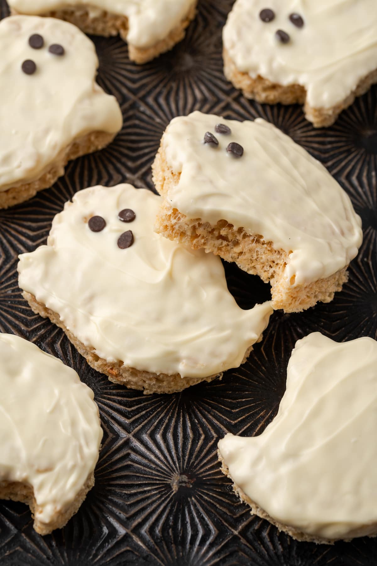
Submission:
M 119 38 L 95 38 L 98 82 L 122 106 L 121 134 L 104 151 L 71 162 L 54 188 L 0 211 L 0 331 L 28 338 L 75 368 L 94 389 L 105 433 L 96 485 L 66 528 L 42 538 L 24 505 L 0 502 L 4 566 L 377 564 L 377 539 L 297 543 L 250 516 L 217 461 L 224 432 L 258 434 L 276 414 L 298 338 L 317 330 L 339 341 L 377 338 L 377 88 L 327 130 L 314 130 L 297 106 L 245 100 L 222 70 L 221 29 L 231 5 L 200 0 L 185 40 L 142 67 L 129 62 Z M 7 15 L 4 0 L 0 14 Z M 46 241 L 54 215 L 79 188 L 122 181 L 152 188 L 150 165 L 164 128 L 194 109 L 236 119 L 262 116 L 291 135 L 348 191 L 363 219 L 364 242 L 343 292 L 304 314 L 275 313 L 240 369 L 176 395 L 143 396 L 92 370 L 60 329 L 32 313 L 18 288 L 17 256 Z M 269 297 L 257 277 L 232 265 L 226 271 L 242 307 Z

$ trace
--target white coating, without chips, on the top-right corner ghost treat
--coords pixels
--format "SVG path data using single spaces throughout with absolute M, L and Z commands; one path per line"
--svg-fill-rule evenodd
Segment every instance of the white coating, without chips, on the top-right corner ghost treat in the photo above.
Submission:
M 275 19 L 262 22 L 271 8 Z M 297 28 L 293 12 L 304 19 Z M 281 29 L 291 40 L 281 44 Z M 375 0 L 237 0 L 223 31 L 224 48 L 239 71 L 281 85 L 305 87 L 314 108 L 343 101 L 377 68 Z

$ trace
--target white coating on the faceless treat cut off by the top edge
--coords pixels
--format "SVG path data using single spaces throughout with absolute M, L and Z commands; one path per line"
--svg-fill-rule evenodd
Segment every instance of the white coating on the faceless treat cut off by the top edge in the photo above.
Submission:
M 127 16 L 129 44 L 148 48 L 164 39 L 188 13 L 193 0 L 9 0 L 20 14 L 43 15 L 51 10 L 89 6 L 93 17 L 106 10 Z

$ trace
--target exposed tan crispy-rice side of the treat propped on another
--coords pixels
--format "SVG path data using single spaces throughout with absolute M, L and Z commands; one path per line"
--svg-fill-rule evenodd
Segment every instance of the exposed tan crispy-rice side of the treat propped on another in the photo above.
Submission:
M 285 312 L 301 312 L 317 302 L 329 303 L 336 291 L 348 280 L 346 266 L 330 277 L 308 285 L 291 286 L 283 278 L 288 254 L 275 250 L 271 242 L 265 242 L 259 234 L 249 234 L 243 228 L 235 229 L 226 220 L 215 226 L 201 218 L 189 220 L 165 198 L 171 186 L 179 182 L 179 174 L 168 167 L 162 146 L 153 164 L 153 181 L 164 198 L 156 220 L 155 230 L 164 237 L 190 245 L 195 250 L 219 255 L 226 261 L 234 261 L 241 269 L 258 275 L 270 282 L 272 307 Z M 293 283 L 293 282 L 292 282 Z

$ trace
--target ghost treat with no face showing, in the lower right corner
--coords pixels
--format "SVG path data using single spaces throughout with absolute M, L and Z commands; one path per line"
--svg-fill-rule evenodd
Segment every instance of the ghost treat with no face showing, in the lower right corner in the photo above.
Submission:
M 377 534 L 377 342 L 296 342 L 278 414 L 261 435 L 219 441 L 252 513 L 298 541 Z

